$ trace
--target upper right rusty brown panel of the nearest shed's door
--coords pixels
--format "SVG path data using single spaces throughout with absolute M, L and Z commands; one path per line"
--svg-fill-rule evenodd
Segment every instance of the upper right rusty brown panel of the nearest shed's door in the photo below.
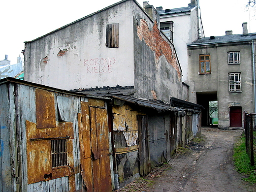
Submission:
M 97 146 L 98 151 L 108 150 L 108 121 L 107 110 L 96 108 L 96 129 L 97 129 Z

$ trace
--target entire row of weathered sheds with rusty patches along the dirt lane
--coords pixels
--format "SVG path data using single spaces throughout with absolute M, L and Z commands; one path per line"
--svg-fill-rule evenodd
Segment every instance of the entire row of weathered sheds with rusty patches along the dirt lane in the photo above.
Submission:
M 195 106 L 182 109 L 2 79 L 0 191 L 111 192 L 123 187 L 170 160 L 177 147 L 200 132 L 200 106 Z

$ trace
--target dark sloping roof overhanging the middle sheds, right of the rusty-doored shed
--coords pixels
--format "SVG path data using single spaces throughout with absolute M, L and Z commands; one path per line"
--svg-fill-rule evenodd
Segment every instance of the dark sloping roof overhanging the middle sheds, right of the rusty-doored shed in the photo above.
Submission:
M 157 102 L 143 100 L 143 99 L 134 98 L 134 97 L 130 97 L 130 96 L 112 96 L 112 97 L 129 102 L 129 103 L 136 104 L 138 106 L 155 109 L 159 113 L 166 112 L 166 111 L 185 111 L 185 109 L 172 107 L 168 104 L 157 103 Z

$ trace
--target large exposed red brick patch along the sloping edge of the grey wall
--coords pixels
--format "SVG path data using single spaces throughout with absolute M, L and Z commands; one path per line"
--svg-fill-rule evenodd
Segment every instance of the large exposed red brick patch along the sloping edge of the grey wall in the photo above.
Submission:
M 179 81 L 181 81 L 181 69 L 177 63 L 174 47 L 160 35 L 157 21 L 155 20 L 153 29 L 150 31 L 145 19 L 140 19 L 140 26 L 137 25 L 137 35 L 141 41 L 144 39 L 151 50 L 155 51 L 155 63 L 157 64 L 159 58 L 164 55 L 167 62 L 177 71 Z

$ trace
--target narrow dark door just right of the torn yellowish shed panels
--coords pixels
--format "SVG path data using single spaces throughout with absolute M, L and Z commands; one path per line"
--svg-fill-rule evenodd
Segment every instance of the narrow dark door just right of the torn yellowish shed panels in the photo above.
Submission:
M 139 135 L 139 173 L 141 176 L 150 172 L 151 164 L 149 158 L 149 137 L 147 116 L 138 115 L 138 135 Z

